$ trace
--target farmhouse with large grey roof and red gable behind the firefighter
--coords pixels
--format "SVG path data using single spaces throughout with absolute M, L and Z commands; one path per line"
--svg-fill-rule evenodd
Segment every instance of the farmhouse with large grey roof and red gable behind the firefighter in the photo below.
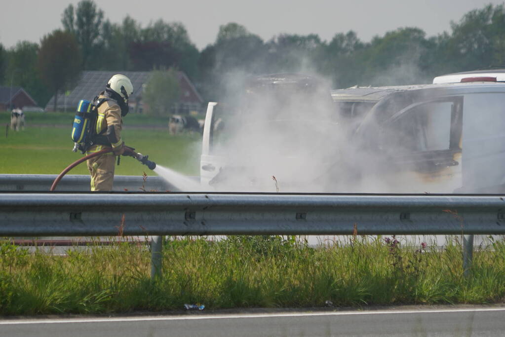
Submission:
M 56 102 L 57 110 L 73 111 L 75 110 L 79 100 L 92 100 L 99 91 L 105 89 L 107 81 L 114 74 L 123 74 L 128 76 L 133 84 L 133 95 L 129 99 L 130 111 L 134 113 L 142 112 L 142 88 L 149 81 L 150 72 L 129 72 L 129 71 L 83 71 L 78 85 L 65 95 L 58 95 Z M 204 100 L 196 91 L 189 78 L 181 71 L 177 72 L 181 94 L 179 101 L 174 104 L 172 110 L 174 113 L 187 114 L 190 111 L 200 111 L 203 109 Z M 47 102 L 46 109 L 53 110 L 55 96 Z

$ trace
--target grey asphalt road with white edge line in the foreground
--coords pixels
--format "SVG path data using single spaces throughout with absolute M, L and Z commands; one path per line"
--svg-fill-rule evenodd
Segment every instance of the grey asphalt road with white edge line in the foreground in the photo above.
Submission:
M 505 307 L 0 319 L 0 336 L 502 336 Z

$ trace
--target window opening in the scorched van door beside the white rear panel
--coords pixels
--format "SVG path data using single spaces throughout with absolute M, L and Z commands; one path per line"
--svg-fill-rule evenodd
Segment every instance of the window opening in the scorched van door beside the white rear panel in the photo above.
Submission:
M 391 123 L 395 133 L 391 144 L 401 152 L 448 150 L 451 146 L 451 125 L 455 102 L 431 101 L 413 104 Z

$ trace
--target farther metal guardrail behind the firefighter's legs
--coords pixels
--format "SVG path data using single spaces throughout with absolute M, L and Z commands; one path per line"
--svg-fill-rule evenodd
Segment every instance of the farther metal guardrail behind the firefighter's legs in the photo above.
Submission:
M 0 191 L 49 191 L 57 175 L 8 175 L 0 174 Z M 194 177 L 195 180 L 199 177 Z M 57 191 L 86 192 L 89 191 L 90 179 L 86 175 L 66 175 L 60 181 Z M 142 176 L 115 176 L 113 191 L 139 192 L 144 187 L 146 191 L 178 191 L 172 184 L 158 176 L 148 176 L 145 184 Z

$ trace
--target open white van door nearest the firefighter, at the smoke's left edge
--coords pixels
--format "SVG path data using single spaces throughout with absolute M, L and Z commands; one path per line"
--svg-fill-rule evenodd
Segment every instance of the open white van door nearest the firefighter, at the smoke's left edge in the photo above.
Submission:
M 204 190 L 214 190 L 209 185 L 209 182 L 219 173 L 225 164 L 225 157 L 217 155 L 217 144 L 223 126 L 224 121 L 222 120 L 222 116 L 220 116 L 219 103 L 209 102 L 205 116 L 200 156 L 200 184 Z

